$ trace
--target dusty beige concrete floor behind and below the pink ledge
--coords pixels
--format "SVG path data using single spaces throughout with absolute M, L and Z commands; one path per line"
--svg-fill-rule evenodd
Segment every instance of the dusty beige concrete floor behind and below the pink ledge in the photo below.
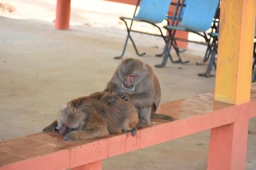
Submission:
M 54 120 L 63 103 L 101 91 L 120 60 L 125 38 L 120 29 L 73 26 L 57 31 L 50 22 L 0 17 L 0 138 L 17 138 L 42 131 Z M 160 38 L 134 34 L 143 57 L 129 45 L 125 57 L 152 67 L 161 62 Z M 162 87 L 161 102 L 214 91 L 214 77 L 198 73 L 204 46 L 190 45 L 182 53 L 189 64 L 154 67 Z M 200 57 L 201 56 L 201 57 Z M 246 169 L 256 169 L 256 120 L 250 121 Z M 104 160 L 103 169 L 206 169 L 209 131 Z

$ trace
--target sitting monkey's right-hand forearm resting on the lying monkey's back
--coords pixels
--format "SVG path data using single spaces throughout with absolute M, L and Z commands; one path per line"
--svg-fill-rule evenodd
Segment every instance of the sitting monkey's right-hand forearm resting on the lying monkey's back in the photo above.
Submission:
M 134 106 L 144 108 L 147 106 L 152 106 L 153 97 L 148 93 L 140 93 L 140 94 L 129 94 L 128 92 L 122 92 L 118 94 L 118 96 L 122 97 L 122 99 L 129 101 L 134 104 Z

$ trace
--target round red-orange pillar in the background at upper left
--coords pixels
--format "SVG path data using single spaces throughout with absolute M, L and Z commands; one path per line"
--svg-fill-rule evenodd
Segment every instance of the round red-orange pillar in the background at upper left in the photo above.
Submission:
M 56 29 L 69 29 L 71 0 L 57 0 L 56 5 Z

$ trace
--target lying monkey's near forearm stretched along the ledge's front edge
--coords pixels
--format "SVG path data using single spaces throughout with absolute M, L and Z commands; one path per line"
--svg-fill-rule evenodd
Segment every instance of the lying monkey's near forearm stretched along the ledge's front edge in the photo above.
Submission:
M 90 129 L 85 129 L 84 131 L 72 131 L 68 132 L 64 139 L 67 141 L 74 140 L 84 140 L 84 139 L 93 139 L 93 138 L 102 138 L 108 136 L 108 128 L 106 125 L 97 125 Z

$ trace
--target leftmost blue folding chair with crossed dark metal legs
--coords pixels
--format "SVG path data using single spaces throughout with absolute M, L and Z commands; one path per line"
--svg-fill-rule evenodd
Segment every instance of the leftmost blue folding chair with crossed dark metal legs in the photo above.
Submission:
M 156 26 L 164 41 L 166 41 L 165 36 L 163 35 L 163 32 L 161 31 L 160 27 L 157 26 L 156 24 L 163 22 L 163 20 L 166 18 L 166 15 L 168 13 L 171 0 L 142 0 L 140 4 L 140 10 L 138 11 L 138 14 L 136 15 L 136 11 L 138 9 L 138 5 L 140 4 L 140 0 L 138 0 L 136 4 L 136 8 L 134 11 L 134 15 L 132 18 L 127 18 L 127 17 L 120 17 L 120 20 L 124 21 L 126 29 L 127 29 L 127 38 L 125 39 L 125 44 L 123 48 L 123 52 L 120 56 L 115 57 L 115 59 L 120 59 L 121 57 L 124 56 L 125 49 L 128 43 L 128 40 L 131 39 L 132 45 L 134 46 L 134 49 L 138 55 L 145 55 L 145 53 L 139 53 L 136 45 L 134 43 L 134 40 L 131 37 L 131 31 L 132 30 L 132 24 L 133 21 L 138 21 L 138 22 L 147 22 L 148 24 Z M 131 25 L 128 26 L 126 20 L 131 20 Z M 138 32 L 138 31 L 134 31 Z

